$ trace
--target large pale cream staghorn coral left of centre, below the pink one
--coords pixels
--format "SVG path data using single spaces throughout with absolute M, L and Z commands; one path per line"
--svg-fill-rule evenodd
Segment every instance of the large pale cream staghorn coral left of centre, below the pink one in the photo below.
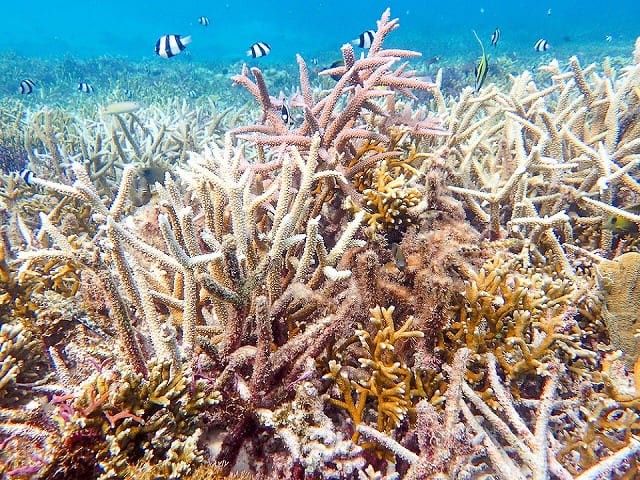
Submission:
M 216 148 L 215 145 L 213 148 Z M 259 360 L 256 368 L 247 377 L 247 384 L 253 393 L 249 397 L 240 393 L 240 396 L 234 400 L 243 405 L 244 413 L 241 417 L 244 416 L 243 421 L 246 422 L 249 421 L 255 408 L 261 404 L 269 406 L 277 404 L 281 401 L 280 398 L 286 395 L 279 387 L 276 388 L 276 379 L 283 374 L 285 367 L 290 364 L 299 365 L 288 373 L 290 380 L 287 382 L 289 383 L 300 374 L 299 369 L 304 365 L 304 358 L 312 355 L 313 351 L 321 351 L 323 342 L 327 342 L 330 338 L 321 336 L 316 339 L 315 337 L 332 321 L 332 318 L 322 319 L 303 333 L 295 335 L 297 329 L 288 333 L 287 309 L 291 302 L 299 302 L 303 298 L 305 287 L 299 286 L 298 279 L 310 282 L 324 281 L 329 285 L 333 283 L 333 280 L 326 277 L 330 274 L 324 272 L 326 269 L 334 269 L 344 250 L 350 245 L 359 244 L 353 241 L 352 237 L 361 222 L 362 215 L 357 215 L 350 224 L 346 225 L 343 235 L 336 240 L 334 247 L 330 250 L 324 246 L 321 237 L 316 233 L 318 220 L 310 221 L 306 226 L 308 240 L 296 263 L 298 273 L 295 276 L 290 274 L 285 277 L 284 281 L 287 283 L 283 284 L 281 272 L 283 269 L 289 270 L 290 266 L 283 265 L 281 257 L 305 238 L 302 235 L 293 234 L 299 228 L 297 223 L 308 214 L 308 204 L 305 205 L 302 199 L 308 195 L 312 186 L 314 168 L 317 164 L 315 151 L 312 149 L 307 159 L 303 187 L 293 198 L 285 196 L 290 195 L 290 192 L 286 191 L 280 195 L 281 205 L 291 203 L 292 208 L 287 215 L 276 216 L 275 221 L 279 224 L 273 227 L 270 239 L 258 238 L 257 235 L 261 232 L 254 230 L 253 226 L 250 228 L 252 223 L 248 221 L 254 215 L 254 210 L 260 208 L 262 203 L 269 200 L 269 197 L 262 195 L 257 201 L 246 205 L 248 201 L 239 195 L 243 187 L 234 186 L 229 182 L 231 178 L 237 178 L 236 169 L 240 165 L 239 162 L 233 161 L 231 143 L 227 142 L 226 153 L 220 149 L 215 151 L 218 155 L 215 157 L 194 156 L 192 168 L 203 169 L 215 166 L 219 171 L 218 175 L 222 177 L 217 178 L 215 175 L 201 177 L 206 183 L 195 188 L 201 195 L 201 205 L 228 205 L 231 222 L 209 224 L 212 227 L 209 232 L 220 235 L 222 244 L 217 243 L 215 236 L 209 236 L 207 232 L 204 232 L 201 237 L 202 246 L 199 244 L 193 216 L 189 209 L 182 207 L 178 185 L 167 177 L 164 187 L 160 190 L 167 214 L 159 215 L 158 221 L 164 247 L 176 257 L 169 256 L 154 244 L 146 243 L 135 232 L 130 231 L 129 225 L 120 222 L 127 203 L 127 191 L 133 178 L 131 167 L 125 169 L 118 193 L 107 208 L 99 200 L 95 186 L 90 182 L 86 170 L 75 164 L 73 171 L 77 181 L 72 187 L 39 178 L 34 181 L 45 188 L 83 199 L 91 205 L 96 212 L 93 214 L 94 221 L 106 227 L 108 237 L 108 242 L 104 243 L 106 255 L 97 252 L 93 242 L 70 243 L 43 215 L 41 216 L 43 230 L 54 240 L 56 248 L 22 254 L 21 258 L 24 260 L 22 270 L 27 271 L 31 265 L 41 260 L 73 259 L 83 265 L 83 268 L 95 272 L 92 275 L 99 275 L 107 296 L 108 308 L 115 313 L 115 324 L 119 329 L 118 340 L 121 342 L 123 351 L 127 352 L 127 358 L 130 359 L 131 364 L 142 374 L 146 374 L 147 366 L 143 358 L 144 352 L 132 329 L 132 315 L 125 303 L 129 301 L 137 306 L 137 315 L 148 328 L 150 342 L 147 348 L 160 359 L 170 359 L 178 367 L 184 360 L 191 363 L 195 358 L 195 352 L 200 348 L 204 349 L 213 361 L 210 368 L 220 372 L 220 377 L 216 380 L 220 388 L 227 387 L 229 380 L 238 374 L 236 372 L 246 368 L 245 362 L 257 356 Z M 241 154 L 242 150 L 238 149 L 234 155 L 239 158 Z M 299 166 L 304 165 L 297 152 L 293 151 L 293 156 L 297 159 Z M 194 177 L 189 175 L 188 178 Z M 248 176 L 245 175 L 244 178 L 247 179 Z M 211 180 L 213 185 L 208 183 Z M 212 198 L 214 194 L 217 197 Z M 98 232 L 100 230 L 100 228 L 97 229 Z M 234 234 L 233 237 L 230 235 L 231 232 Z M 293 241 L 288 240 L 289 236 L 293 236 Z M 262 247 L 265 240 L 271 243 L 268 249 Z M 205 250 L 203 253 L 198 253 L 203 247 L 206 250 L 217 251 Z M 315 252 L 320 261 L 311 270 L 309 267 Z M 109 260 L 116 266 L 118 281 L 124 286 L 124 292 L 115 289 L 116 279 L 107 267 Z M 205 266 L 208 264 L 211 264 L 211 269 L 207 272 Z M 143 273 L 143 266 L 157 270 L 163 268 L 165 273 L 152 280 L 150 276 Z M 303 275 L 305 268 L 310 271 Z M 169 275 L 173 276 L 173 281 L 167 283 L 165 279 Z M 325 278 L 327 280 L 323 280 Z M 290 285 L 287 287 L 287 284 Z M 256 287 L 259 288 L 256 290 Z M 282 298 L 280 298 L 281 295 Z M 204 304 L 201 302 L 205 299 L 211 301 L 212 305 L 217 305 L 216 310 L 204 313 L 209 325 L 200 324 L 204 317 L 201 310 Z M 296 308 L 322 307 L 317 314 L 321 315 L 325 307 L 318 298 L 311 296 L 309 301 L 306 307 L 298 305 Z M 166 306 L 170 312 L 169 316 L 158 316 L 154 302 Z M 213 316 L 210 316 L 211 314 Z M 306 321 L 309 322 L 311 318 L 313 317 L 306 317 Z M 221 323 L 221 320 L 225 323 Z M 255 336 L 250 333 L 250 326 L 254 325 L 254 322 L 257 324 Z M 171 333 L 174 328 L 172 324 L 179 328 L 178 336 Z M 273 326 L 269 326 L 270 324 Z M 270 331 L 272 328 L 280 329 L 278 336 L 274 336 Z M 199 331 L 216 332 L 223 329 L 227 329 L 229 335 L 214 335 L 214 338 L 209 339 L 206 333 L 199 333 Z M 247 333 L 243 335 L 243 332 Z M 271 353 L 272 339 L 281 344 L 275 353 Z M 314 341 L 318 342 L 318 345 L 305 351 Z M 236 351 L 237 355 L 234 355 Z M 300 358 L 297 358 L 298 356 Z M 270 389 L 274 389 L 272 392 L 275 395 L 274 399 L 266 395 Z M 258 392 L 263 394 L 258 395 Z M 225 421 L 235 422 L 236 420 L 237 418 L 228 418 Z M 248 433 L 247 431 L 244 435 Z M 241 443 L 243 436 L 232 433 L 229 441 Z M 220 453 L 223 459 L 227 456 L 233 458 L 236 454 L 237 450 L 230 447 L 226 447 Z

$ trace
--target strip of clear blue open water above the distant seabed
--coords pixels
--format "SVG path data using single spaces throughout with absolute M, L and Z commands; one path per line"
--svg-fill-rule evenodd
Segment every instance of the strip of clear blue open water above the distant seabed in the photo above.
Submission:
M 375 28 L 381 12 L 391 7 L 401 28 L 387 46 L 421 51 L 425 56 L 477 57 L 475 29 L 489 43 L 500 27 L 499 48 L 532 50 L 546 38 L 559 59 L 593 49 L 633 48 L 640 35 L 640 2 L 602 1 L 322 1 L 274 2 L 124 0 L 5 0 L 0 15 L 0 53 L 27 57 L 123 56 L 154 58 L 157 38 L 167 33 L 192 35 L 192 61 L 235 61 L 256 41 L 272 47 L 265 64 L 293 62 L 296 53 L 334 55 L 340 45 Z M 551 9 L 551 15 L 548 15 Z M 197 18 L 206 15 L 209 27 Z M 610 42 L 605 37 L 612 37 Z M 157 58 L 158 62 L 184 61 Z

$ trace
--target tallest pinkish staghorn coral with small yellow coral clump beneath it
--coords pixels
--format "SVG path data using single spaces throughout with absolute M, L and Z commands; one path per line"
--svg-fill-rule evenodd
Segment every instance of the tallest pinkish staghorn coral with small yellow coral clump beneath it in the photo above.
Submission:
M 416 139 L 448 135 L 449 132 L 440 126 L 439 119 L 435 117 L 414 119 L 395 115 L 393 98 L 396 93 L 416 99 L 412 90 L 431 91 L 434 85 L 417 78 L 415 72 L 406 70 L 406 64 L 392 69 L 400 60 L 420 54 L 410 50 L 382 48 L 386 36 L 398 27 L 398 19 L 391 19 L 388 9 L 377 22 L 377 27 L 374 44 L 365 58 L 356 59 L 353 47 L 350 44 L 343 45 L 344 66 L 321 72 L 322 75 L 340 75 L 340 80 L 319 98 L 312 92 L 304 59 L 297 57 L 301 90 L 297 106 L 304 112 L 304 121 L 297 128 L 288 129 L 282 121 L 279 115 L 282 101 L 269 95 L 262 72 L 252 68 L 252 80 L 245 66 L 242 74 L 234 76 L 233 80 L 245 87 L 260 103 L 262 118 L 259 124 L 236 128 L 233 133 L 262 148 L 295 145 L 303 151 L 309 148 L 313 136 L 319 135 L 320 160 L 327 168 L 336 169 L 347 179 L 365 173 L 373 165 L 377 158 L 375 155 L 373 158 L 362 155 L 371 142 L 385 148 L 387 156 L 393 157 L 402 153 L 395 151 L 395 146 L 397 137 L 403 133 Z M 386 98 L 387 107 L 378 102 L 381 98 Z M 365 113 L 379 118 L 392 116 L 393 122 L 387 125 L 365 121 Z M 383 153 L 380 159 L 384 156 Z M 275 164 L 280 162 L 281 159 L 274 160 Z M 402 200 L 393 197 L 393 191 L 399 189 L 399 182 L 402 181 L 402 178 L 389 179 L 383 171 L 377 175 L 375 182 L 371 182 L 373 188 L 368 195 L 361 195 L 349 182 L 337 181 L 335 187 L 350 197 L 354 209 L 372 210 L 368 221 L 375 230 L 380 228 L 379 221 L 382 221 L 383 229 L 389 228 L 393 224 L 392 219 L 397 216 L 395 211 L 402 213 L 405 208 L 419 201 L 419 195 L 411 188 L 405 192 L 398 191 Z M 322 203 L 324 198 L 321 197 L 319 201 Z M 374 205 L 377 208 L 367 208 Z

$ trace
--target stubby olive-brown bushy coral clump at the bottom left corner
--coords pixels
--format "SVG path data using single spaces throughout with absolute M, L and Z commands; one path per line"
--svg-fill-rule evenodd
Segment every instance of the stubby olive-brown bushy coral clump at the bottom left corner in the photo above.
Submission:
M 103 369 L 58 400 L 63 435 L 87 437 L 76 447 L 93 450 L 102 479 L 125 478 L 136 464 L 138 474 L 177 479 L 204 460 L 202 413 L 220 401 L 219 392 L 166 361 L 152 361 L 148 371 L 144 378 L 126 365 Z M 64 475 L 69 453 L 61 448 L 43 476 Z

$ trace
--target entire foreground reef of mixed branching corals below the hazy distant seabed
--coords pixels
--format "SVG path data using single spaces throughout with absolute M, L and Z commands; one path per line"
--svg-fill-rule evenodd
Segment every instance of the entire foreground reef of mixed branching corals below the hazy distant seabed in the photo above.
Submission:
M 640 64 L 445 97 L 397 27 L 298 56 L 292 125 L 255 67 L 257 123 L 16 109 L 3 475 L 637 475 Z

